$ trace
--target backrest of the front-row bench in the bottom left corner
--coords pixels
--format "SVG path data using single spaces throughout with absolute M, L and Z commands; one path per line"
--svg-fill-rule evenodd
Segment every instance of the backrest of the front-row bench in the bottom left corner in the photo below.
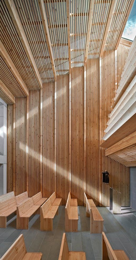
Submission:
M 7 252 L 2 256 L 1 260 L 16 260 L 23 259 L 26 254 L 24 237 L 21 234 L 16 241 L 11 245 Z

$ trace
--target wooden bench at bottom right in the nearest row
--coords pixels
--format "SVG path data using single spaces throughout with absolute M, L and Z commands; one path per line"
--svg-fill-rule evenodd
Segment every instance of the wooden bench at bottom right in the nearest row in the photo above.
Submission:
M 104 232 L 102 232 L 102 260 L 129 260 L 124 250 L 113 250 Z

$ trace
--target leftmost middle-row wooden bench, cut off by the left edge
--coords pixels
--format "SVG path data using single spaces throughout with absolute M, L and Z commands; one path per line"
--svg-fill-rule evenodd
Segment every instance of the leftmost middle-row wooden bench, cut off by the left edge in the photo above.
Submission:
M 0 228 L 6 228 L 7 217 L 16 211 L 15 196 L 0 203 Z

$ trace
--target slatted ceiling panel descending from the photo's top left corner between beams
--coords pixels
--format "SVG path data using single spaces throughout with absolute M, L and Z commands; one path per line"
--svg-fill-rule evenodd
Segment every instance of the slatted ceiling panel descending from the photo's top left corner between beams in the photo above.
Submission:
M 0 1 L 0 39 L 28 89 L 38 89 L 34 72 L 31 69 L 4 1 Z

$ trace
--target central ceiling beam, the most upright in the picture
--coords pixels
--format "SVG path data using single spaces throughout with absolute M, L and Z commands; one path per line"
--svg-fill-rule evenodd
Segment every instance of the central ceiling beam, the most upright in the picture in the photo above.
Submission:
M 71 73 L 71 42 L 70 42 L 70 8 L 69 0 L 66 0 L 67 9 L 67 39 L 68 39 L 68 50 L 69 50 L 69 73 Z

